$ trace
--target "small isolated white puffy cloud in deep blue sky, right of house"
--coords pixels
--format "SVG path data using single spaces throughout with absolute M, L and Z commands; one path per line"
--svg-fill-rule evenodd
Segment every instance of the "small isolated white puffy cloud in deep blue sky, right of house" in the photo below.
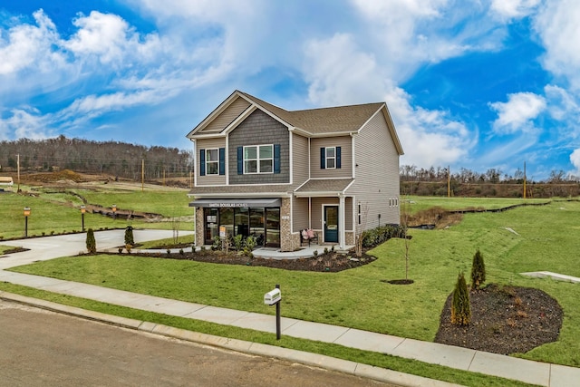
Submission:
M 493 122 L 494 131 L 499 134 L 528 131 L 533 127 L 532 120 L 546 110 L 546 99 L 533 92 L 517 92 L 507 95 L 507 102 L 489 103 L 498 112 Z

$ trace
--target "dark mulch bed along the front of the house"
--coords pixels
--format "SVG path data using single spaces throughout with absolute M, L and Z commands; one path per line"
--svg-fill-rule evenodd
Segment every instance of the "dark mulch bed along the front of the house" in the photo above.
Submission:
M 319 256 L 312 256 L 309 258 L 271 259 L 259 257 L 250 258 L 248 256 L 237 254 L 235 251 L 225 253 L 223 251 L 206 250 L 192 253 L 190 248 L 188 248 L 188 250 L 189 252 L 186 252 L 186 249 L 184 249 L 183 254 L 159 253 L 148 254 L 146 256 L 171 259 L 189 259 L 192 261 L 208 262 L 212 264 L 264 266 L 285 270 L 318 271 L 330 273 L 336 273 L 343 270 L 352 269 L 354 267 L 367 265 L 376 259 L 374 256 L 368 256 L 365 252 L 362 253 L 360 258 L 354 256 L 354 254 L 343 255 L 337 254 L 335 252 L 329 252 L 327 254 L 321 254 Z

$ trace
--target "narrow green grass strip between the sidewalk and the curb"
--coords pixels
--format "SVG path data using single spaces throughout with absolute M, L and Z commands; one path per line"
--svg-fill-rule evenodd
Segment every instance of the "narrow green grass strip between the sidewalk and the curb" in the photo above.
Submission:
M 511 381 L 495 376 L 483 375 L 476 372 L 460 371 L 436 364 L 421 363 L 415 360 L 404 359 L 387 354 L 361 351 L 338 344 L 315 342 L 285 335 L 282 335 L 280 340 L 276 340 L 275 334 L 266 334 L 250 329 L 237 328 L 235 326 L 208 323 L 183 317 L 173 317 L 167 314 L 156 314 L 137 309 L 131 309 L 124 306 L 104 304 L 97 301 L 73 297 L 70 295 L 58 295 L 21 285 L 12 285 L 0 282 L 0 289 L 6 292 L 27 295 L 62 305 L 76 306 L 82 309 L 92 310 L 105 314 L 115 314 L 140 321 L 148 321 L 155 324 L 174 326 L 180 329 L 186 329 L 202 334 L 213 334 L 221 337 L 245 340 L 253 343 L 264 343 L 308 353 L 321 353 L 326 356 L 350 360 L 352 362 L 370 364 L 385 369 L 411 373 L 444 382 L 459 383 L 465 386 L 525 387 L 529 385 L 524 382 Z

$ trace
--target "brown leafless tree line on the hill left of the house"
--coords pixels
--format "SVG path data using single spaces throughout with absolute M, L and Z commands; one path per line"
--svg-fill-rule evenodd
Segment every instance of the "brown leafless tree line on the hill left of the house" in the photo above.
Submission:
M 120 141 L 68 139 L 0 141 L 0 172 L 77 172 L 108 174 L 125 179 L 186 177 L 193 170 L 190 150 L 145 147 Z

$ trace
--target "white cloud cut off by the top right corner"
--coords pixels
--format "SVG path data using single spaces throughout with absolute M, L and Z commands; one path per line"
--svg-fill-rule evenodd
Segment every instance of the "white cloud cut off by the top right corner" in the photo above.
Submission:
M 546 47 L 546 70 L 564 77 L 580 89 L 580 6 L 576 0 L 551 0 L 540 8 L 534 28 Z

